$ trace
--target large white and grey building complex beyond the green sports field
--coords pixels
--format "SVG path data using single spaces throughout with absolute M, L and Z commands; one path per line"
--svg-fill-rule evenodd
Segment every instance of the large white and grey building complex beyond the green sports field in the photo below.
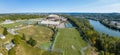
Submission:
M 38 24 L 47 25 L 50 27 L 57 27 L 57 28 L 65 28 L 65 23 L 67 22 L 67 18 L 64 18 L 59 15 L 51 14 L 46 19 L 42 19 Z

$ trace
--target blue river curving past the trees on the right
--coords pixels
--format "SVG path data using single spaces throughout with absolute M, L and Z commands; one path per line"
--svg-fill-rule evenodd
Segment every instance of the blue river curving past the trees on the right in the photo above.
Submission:
M 90 24 L 94 27 L 94 29 L 100 33 L 105 33 L 110 36 L 120 37 L 120 32 L 112 30 L 103 24 L 101 24 L 99 21 L 89 20 Z

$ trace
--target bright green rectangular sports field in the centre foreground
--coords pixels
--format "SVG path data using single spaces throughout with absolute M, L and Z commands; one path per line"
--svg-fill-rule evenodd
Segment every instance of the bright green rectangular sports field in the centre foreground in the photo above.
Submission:
M 81 49 L 87 46 L 79 32 L 74 28 L 58 29 L 57 40 L 53 51 L 62 52 L 64 55 L 81 55 Z

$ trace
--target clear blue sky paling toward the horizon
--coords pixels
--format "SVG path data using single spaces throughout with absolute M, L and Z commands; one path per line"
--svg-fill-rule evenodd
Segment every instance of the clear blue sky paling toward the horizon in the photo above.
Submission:
M 120 13 L 120 0 L 0 0 L 0 13 Z

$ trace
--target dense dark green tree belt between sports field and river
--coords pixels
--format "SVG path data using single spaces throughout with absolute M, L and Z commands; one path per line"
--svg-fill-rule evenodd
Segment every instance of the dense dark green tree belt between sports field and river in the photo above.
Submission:
M 91 43 L 91 46 L 96 47 L 96 51 L 99 52 L 99 55 L 120 54 L 120 38 L 98 33 L 87 19 L 74 18 L 66 15 L 64 15 L 64 17 L 69 18 L 69 20 L 76 25 L 83 39 L 87 39 Z

